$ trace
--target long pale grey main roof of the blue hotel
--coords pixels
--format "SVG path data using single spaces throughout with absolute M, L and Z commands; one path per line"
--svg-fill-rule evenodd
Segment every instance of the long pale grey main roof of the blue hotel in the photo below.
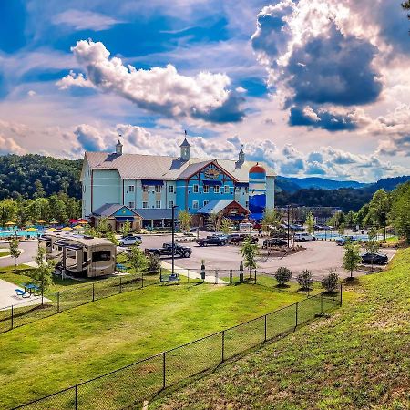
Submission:
M 142 154 L 109 154 L 107 152 L 86 152 L 86 159 L 90 169 L 114 169 L 118 170 L 121 179 L 179 179 L 182 172 L 193 164 L 210 163 L 215 159 L 191 158 L 186 161 L 179 157 L 163 157 L 159 155 Z M 256 161 L 244 161 L 241 167 L 231 159 L 217 159 L 217 163 L 225 169 L 231 177 L 239 182 L 249 181 L 249 169 Z M 266 170 L 268 177 L 274 177 L 275 173 L 267 164 L 260 162 Z M 192 168 L 193 169 L 193 168 Z M 195 172 L 193 172 L 195 173 Z M 185 174 L 184 174 L 185 175 Z

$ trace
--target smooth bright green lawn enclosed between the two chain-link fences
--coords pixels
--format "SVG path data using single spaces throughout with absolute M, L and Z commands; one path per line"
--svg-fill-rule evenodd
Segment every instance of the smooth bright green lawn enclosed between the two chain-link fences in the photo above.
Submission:
M 150 286 L 0 334 L 0 408 L 298 302 L 261 286 Z

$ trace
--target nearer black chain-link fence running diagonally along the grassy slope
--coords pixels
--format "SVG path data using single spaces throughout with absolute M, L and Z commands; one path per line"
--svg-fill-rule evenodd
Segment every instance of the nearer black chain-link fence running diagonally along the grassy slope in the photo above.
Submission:
M 310 296 L 278 311 L 129 364 L 13 410 L 110 410 L 141 406 L 167 387 L 210 371 L 261 343 L 290 333 L 300 324 L 310 322 L 341 304 L 342 286 L 339 292 Z

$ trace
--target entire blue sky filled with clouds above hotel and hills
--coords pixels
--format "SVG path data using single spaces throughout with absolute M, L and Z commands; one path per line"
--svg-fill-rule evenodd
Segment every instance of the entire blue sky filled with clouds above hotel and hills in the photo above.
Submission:
M 0 1 L 0 155 L 264 160 L 287 177 L 410 174 L 400 0 Z

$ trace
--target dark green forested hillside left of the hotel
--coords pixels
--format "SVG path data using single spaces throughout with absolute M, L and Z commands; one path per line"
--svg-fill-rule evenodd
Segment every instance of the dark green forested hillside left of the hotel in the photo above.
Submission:
M 0 156 L 0 200 L 48 197 L 60 191 L 80 199 L 82 162 L 33 154 Z

